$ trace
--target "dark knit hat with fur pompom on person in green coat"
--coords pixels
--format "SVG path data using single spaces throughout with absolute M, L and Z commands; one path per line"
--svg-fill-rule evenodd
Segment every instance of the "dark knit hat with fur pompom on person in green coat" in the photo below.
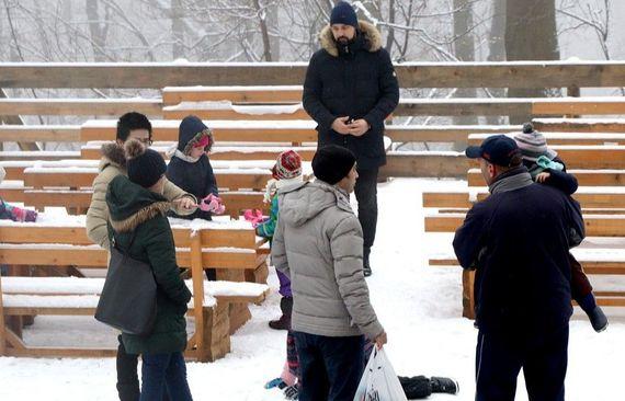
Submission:
M 135 184 L 149 188 L 156 184 L 167 171 L 167 164 L 156 150 L 146 148 L 136 139 L 124 144 L 126 153 L 126 170 L 128 179 Z

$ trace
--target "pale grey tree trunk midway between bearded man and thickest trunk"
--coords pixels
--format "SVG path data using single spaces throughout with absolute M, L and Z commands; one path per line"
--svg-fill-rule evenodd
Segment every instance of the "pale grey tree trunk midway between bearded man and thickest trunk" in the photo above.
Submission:
M 454 0 L 454 54 L 461 61 L 475 61 L 475 38 L 473 34 L 473 1 Z M 454 98 L 476 98 L 475 88 L 461 88 Z M 477 124 L 477 116 L 454 117 L 454 124 Z M 463 148 L 466 144 L 457 144 Z

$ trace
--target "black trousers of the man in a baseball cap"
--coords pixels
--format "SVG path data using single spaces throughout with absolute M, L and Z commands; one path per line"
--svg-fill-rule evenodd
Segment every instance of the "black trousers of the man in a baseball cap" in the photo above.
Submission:
M 521 368 L 530 401 L 564 401 L 568 341 L 568 325 L 534 342 L 480 331 L 476 401 L 513 401 Z

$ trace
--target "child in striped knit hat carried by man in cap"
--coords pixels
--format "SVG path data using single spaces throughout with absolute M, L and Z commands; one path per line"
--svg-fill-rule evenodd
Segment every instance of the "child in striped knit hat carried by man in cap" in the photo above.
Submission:
M 523 125 L 523 131 L 514 136 L 514 141 L 523 154 L 523 164 L 536 182 L 552 185 L 567 195 L 572 195 L 578 187 L 575 175 L 567 173 L 565 162 L 558 153 L 547 147 L 543 134 L 534 129 L 531 123 Z M 607 317 L 592 294 L 592 285 L 581 264 L 569 253 L 571 264 L 571 295 L 586 312 L 594 331 L 602 332 L 607 328 Z

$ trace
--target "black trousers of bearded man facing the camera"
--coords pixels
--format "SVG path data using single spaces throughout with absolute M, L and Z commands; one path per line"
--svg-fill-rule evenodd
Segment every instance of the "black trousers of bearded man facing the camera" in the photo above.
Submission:
M 364 248 L 373 247 L 377 228 L 377 173 L 378 169 L 359 169 L 354 193 L 359 202 L 359 220 L 363 228 Z

